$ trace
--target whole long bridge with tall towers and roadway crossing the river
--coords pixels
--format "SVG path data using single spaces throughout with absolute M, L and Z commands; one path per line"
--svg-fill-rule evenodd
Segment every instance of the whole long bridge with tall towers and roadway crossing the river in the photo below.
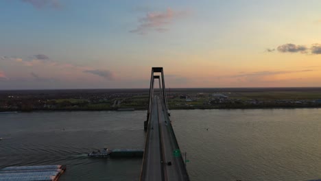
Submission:
M 160 75 L 154 75 L 154 73 Z M 154 95 L 155 80 L 158 80 L 159 92 Z M 141 181 L 189 180 L 186 153 L 180 152 L 169 116 L 163 67 L 153 67 L 147 121 L 144 122 L 144 130 L 147 134 Z M 183 155 L 185 155 L 185 162 Z

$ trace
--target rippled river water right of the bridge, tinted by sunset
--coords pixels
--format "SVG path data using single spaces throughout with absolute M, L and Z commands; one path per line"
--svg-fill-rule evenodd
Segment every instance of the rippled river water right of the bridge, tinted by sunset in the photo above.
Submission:
M 321 178 L 321 109 L 177 110 L 171 119 L 193 180 Z

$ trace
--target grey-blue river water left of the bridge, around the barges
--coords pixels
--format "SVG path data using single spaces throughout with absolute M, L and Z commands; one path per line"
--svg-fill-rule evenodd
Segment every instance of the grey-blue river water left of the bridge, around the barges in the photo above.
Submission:
M 139 180 L 141 158 L 87 158 L 96 149 L 143 148 L 145 112 L 0 114 L 0 168 L 67 165 L 60 180 Z

